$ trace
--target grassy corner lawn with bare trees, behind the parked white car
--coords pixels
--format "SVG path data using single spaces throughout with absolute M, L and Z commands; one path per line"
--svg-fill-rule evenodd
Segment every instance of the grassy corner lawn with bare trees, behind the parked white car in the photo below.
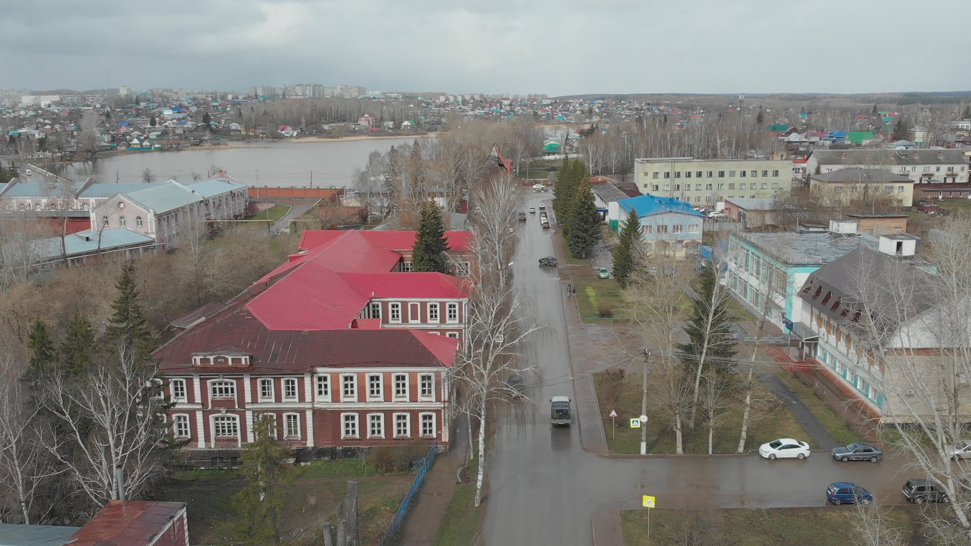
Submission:
M 580 295 L 579 293 L 577 294 Z M 803 430 L 786 405 L 776 398 L 756 379 L 756 392 L 753 398 L 764 400 L 760 404 L 753 404 L 753 419 L 749 426 L 746 439 L 746 451 L 758 449 L 758 446 L 776 438 L 791 437 L 805 438 L 810 446 L 813 441 Z M 635 374 L 621 374 L 617 372 L 603 372 L 593 376 L 593 383 L 600 400 L 600 415 L 607 431 L 607 445 L 611 453 L 638 454 L 641 452 L 641 429 L 631 428 L 630 419 L 641 414 L 641 376 Z M 650 394 L 650 392 L 649 392 Z M 730 394 L 729 394 L 730 395 Z M 612 430 L 610 411 L 616 410 L 617 437 Z M 722 417 L 720 426 L 715 428 L 714 453 L 735 453 L 738 448 L 739 434 L 742 430 L 742 403 L 733 403 L 732 407 Z M 675 453 L 675 435 L 671 427 L 657 417 L 648 400 L 648 453 Z M 698 427 L 688 430 L 685 424 L 684 449 L 686 454 L 708 453 L 708 429 L 700 418 Z

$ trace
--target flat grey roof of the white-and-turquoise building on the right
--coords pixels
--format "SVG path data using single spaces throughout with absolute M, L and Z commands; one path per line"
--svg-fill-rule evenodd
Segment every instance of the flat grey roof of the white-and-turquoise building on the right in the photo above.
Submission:
M 823 265 L 861 246 L 874 250 L 880 246 L 875 237 L 866 233 L 844 236 L 818 231 L 760 231 L 734 236 L 788 265 Z

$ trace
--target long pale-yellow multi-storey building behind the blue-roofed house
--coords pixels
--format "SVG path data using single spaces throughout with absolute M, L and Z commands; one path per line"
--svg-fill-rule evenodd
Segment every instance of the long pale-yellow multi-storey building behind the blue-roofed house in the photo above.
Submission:
M 644 193 L 674 197 L 691 206 L 734 198 L 769 199 L 792 181 L 792 161 L 773 159 L 634 159 L 634 182 Z

